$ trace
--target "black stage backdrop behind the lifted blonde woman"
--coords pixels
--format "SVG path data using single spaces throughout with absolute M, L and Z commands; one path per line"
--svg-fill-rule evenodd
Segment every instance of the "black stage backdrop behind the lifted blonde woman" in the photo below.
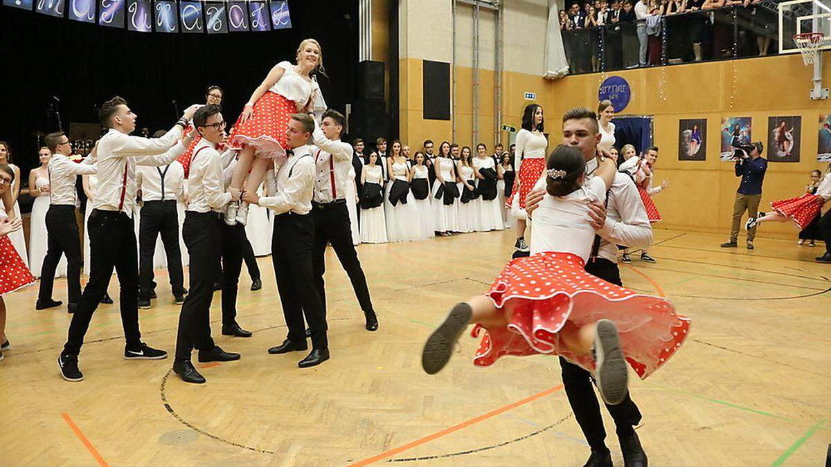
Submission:
M 321 43 L 327 76 L 318 75 L 327 105 L 346 110 L 355 96 L 358 54 L 357 2 L 292 0 L 292 28 L 271 32 L 186 34 L 129 32 L 12 7 L 0 7 L 2 81 L 0 140 L 12 146 L 24 183 L 37 166 L 34 131 L 57 130 L 53 97 L 63 130 L 97 123 L 96 106 L 123 96 L 139 116 L 136 133 L 167 130 L 179 111 L 204 103 L 207 86 L 225 92 L 229 126 L 254 88 L 278 61 L 294 62 L 300 42 Z M 73 139 L 73 135 L 70 135 Z

